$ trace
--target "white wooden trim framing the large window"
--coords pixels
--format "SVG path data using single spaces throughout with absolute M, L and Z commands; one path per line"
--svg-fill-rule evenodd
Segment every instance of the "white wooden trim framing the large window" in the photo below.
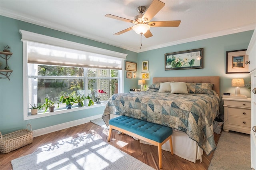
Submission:
M 90 107 L 73 108 L 72 110 L 64 109 L 62 111 L 57 111 L 57 112 L 53 112 L 53 113 L 29 116 L 28 115 L 28 107 L 27 107 L 27 104 L 28 104 L 27 103 L 28 102 L 28 74 L 27 74 L 28 73 L 28 70 L 27 70 L 28 55 L 27 55 L 27 43 L 26 43 L 27 41 L 45 43 L 45 44 L 49 44 L 49 45 L 56 45 L 56 46 L 61 46 L 61 47 L 66 47 L 66 48 L 78 49 L 78 50 L 82 50 L 82 51 L 88 51 L 88 52 L 92 52 L 92 53 L 98 53 L 98 54 L 122 58 L 122 66 L 124 65 L 124 59 L 126 59 L 127 54 L 119 53 L 116 51 L 110 51 L 110 50 L 102 49 L 102 48 L 98 48 L 98 47 L 93 47 L 90 45 L 84 45 L 81 43 L 62 40 L 59 38 L 53 38 L 50 36 L 44 36 L 41 34 L 36 34 L 33 32 L 24 31 L 24 30 L 20 30 L 19 32 L 22 35 L 21 41 L 23 42 L 23 120 L 24 121 L 30 120 L 30 119 L 36 119 L 36 118 L 40 118 L 40 117 L 58 115 L 58 114 L 62 114 L 62 113 L 80 111 L 80 110 L 84 110 L 84 109 L 91 109 L 91 108 L 101 107 L 101 106 L 106 105 L 106 103 L 102 103 L 102 104 L 93 105 Z M 124 67 L 122 69 L 122 73 L 124 73 Z M 123 93 L 123 91 L 124 91 L 123 75 L 120 74 L 119 78 L 120 78 L 119 92 Z

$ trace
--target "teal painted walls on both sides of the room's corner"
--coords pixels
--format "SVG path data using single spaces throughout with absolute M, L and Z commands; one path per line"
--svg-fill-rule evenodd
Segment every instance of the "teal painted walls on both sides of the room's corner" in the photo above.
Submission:
M 105 43 L 0 16 L 0 49 L 2 51 L 4 45 L 10 45 L 12 47 L 11 52 L 13 53 L 12 57 L 8 60 L 8 65 L 13 70 L 10 81 L 8 79 L 0 79 L 0 130 L 2 134 L 25 128 L 27 123 L 30 123 L 33 130 L 36 130 L 98 115 L 104 111 L 104 107 L 97 107 L 23 121 L 22 42 L 20 42 L 21 35 L 18 32 L 20 29 L 128 54 L 126 61 L 137 63 L 137 78 L 126 79 L 126 71 L 124 71 L 124 92 L 128 92 L 131 88 L 140 88 L 138 86 L 138 79 L 141 78 L 142 61 L 145 60 L 149 61 L 151 77 L 150 80 L 147 80 L 147 85 L 152 83 L 152 77 L 217 75 L 220 76 L 220 93 L 222 94 L 223 92 L 234 93 L 234 87 L 231 87 L 231 79 L 234 77 L 244 78 L 245 83 L 250 82 L 249 74 L 225 74 L 225 60 L 226 51 L 246 49 L 248 47 L 253 30 L 135 53 Z M 165 53 L 197 48 L 204 48 L 203 69 L 164 70 Z M 250 97 L 250 91 L 247 87 L 241 87 L 241 93 Z

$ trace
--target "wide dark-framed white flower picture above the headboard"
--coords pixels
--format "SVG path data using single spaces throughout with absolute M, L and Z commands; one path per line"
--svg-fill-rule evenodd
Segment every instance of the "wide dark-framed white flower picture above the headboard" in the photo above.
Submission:
M 202 68 L 203 48 L 164 54 L 164 70 Z

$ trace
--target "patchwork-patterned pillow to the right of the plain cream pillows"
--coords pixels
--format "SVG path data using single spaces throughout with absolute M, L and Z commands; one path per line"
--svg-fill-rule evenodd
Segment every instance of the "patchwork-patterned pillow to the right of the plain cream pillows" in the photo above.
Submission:
M 214 94 L 211 83 L 187 83 L 187 87 L 189 93 Z

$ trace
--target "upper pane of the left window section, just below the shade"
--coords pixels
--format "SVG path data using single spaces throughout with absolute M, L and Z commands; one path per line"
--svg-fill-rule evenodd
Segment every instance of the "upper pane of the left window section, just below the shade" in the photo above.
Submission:
M 63 67 L 55 65 L 38 65 L 28 63 L 28 75 L 46 76 L 84 76 L 83 67 Z

